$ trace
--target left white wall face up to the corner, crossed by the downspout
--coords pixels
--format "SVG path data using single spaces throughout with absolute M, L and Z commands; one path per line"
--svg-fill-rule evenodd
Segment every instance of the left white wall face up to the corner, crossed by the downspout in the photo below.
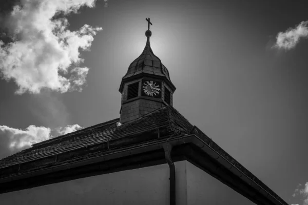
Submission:
M 185 161 L 175 163 L 177 204 L 186 204 Z M 0 194 L 1 205 L 169 204 L 167 164 Z

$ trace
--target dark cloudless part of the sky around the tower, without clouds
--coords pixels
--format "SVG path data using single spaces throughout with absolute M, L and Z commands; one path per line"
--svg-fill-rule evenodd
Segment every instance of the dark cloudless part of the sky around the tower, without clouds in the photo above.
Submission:
M 105 4 L 67 17 L 71 31 L 103 28 L 90 51 L 81 51 L 89 68 L 83 91 L 15 94 L 14 81 L 1 79 L 0 126 L 54 130 L 118 118 L 121 78 L 145 46 L 150 17 L 151 48 L 177 87 L 174 107 L 287 203 L 303 204 L 303 195 L 292 195 L 308 181 L 308 40 L 290 50 L 272 47 L 279 32 L 308 20 L 304 2 Z

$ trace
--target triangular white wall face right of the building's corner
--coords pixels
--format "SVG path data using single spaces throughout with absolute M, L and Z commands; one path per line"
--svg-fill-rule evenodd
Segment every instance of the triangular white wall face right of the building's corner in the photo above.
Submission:
M 186 162 L 187 205 L 255 204 L 190 162 Z

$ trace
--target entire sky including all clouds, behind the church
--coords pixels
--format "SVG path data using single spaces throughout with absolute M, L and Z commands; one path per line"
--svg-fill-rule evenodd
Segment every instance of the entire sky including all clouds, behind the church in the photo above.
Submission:
M 308 204 L 303 1 L 3 5 L 0 158 L 118 118 L 121 78 L 143 51 L 150 17 L 174 107 L 287 203 Z

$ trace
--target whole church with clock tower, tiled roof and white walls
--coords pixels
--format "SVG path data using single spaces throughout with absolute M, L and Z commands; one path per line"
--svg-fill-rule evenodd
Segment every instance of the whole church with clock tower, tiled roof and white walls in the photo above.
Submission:
M 145 48 L 119 88 L 120 118 L 0 160 L 1 205 L 287 205 L 173 107 L 176 87 L 146 20 Z

